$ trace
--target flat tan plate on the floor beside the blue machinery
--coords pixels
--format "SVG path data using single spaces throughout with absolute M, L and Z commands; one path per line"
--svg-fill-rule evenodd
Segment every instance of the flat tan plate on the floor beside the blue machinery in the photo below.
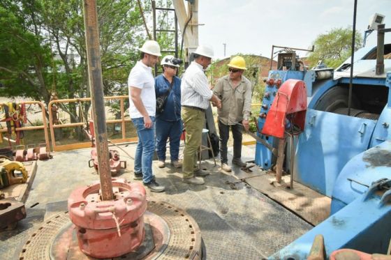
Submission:
M 256 190 L 266 194 L 271 199 L 278 201 L 286 208 L 300 215 L 307 222 L 317 225 L 330 215 L 331 199 L 323 196 L 310 188 L 293 183 L 293 190 L 286 188 L 286 185 L 274 186 L 274 174 L 263 171 L 263 174 L 253 178 L 246 178 L 246 183 Z M 281 183 L 289 183 L 290 176 L 283 176 Z

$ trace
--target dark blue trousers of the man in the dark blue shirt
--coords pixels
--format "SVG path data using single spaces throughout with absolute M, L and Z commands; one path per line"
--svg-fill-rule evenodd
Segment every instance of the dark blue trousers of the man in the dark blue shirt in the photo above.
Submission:
M 165 160 L 165 146 L 168 137 L 170 137 L 171 162 L 178 160 L 181 135 L 182 120 L 164 121 L 160 118 L 156 118 L 156 153 L 158 154 L 158 160 Z

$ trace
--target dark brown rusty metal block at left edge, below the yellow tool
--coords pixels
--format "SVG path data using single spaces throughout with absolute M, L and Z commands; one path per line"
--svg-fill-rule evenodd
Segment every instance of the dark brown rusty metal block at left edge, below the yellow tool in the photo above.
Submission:
M 26 217 L 26 208 L 22 202 L 12 197 L 0 199 L 0 229 L 13 229 L 24 217 Z

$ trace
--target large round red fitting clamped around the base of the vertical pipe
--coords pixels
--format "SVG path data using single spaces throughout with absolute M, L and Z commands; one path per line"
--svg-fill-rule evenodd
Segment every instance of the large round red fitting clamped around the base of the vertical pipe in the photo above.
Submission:
M 80 250 L 89 257 L 120 257 L 144 240 L 144 186 L 112 178 L 112 187 L 115 197 L 110 201 L 101 200 L 100 183 L 73 190 L 68 198 Z

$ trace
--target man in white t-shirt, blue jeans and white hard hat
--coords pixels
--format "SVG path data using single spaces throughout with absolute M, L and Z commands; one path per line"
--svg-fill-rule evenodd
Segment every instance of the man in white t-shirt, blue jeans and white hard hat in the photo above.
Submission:
M 132 68 L 128 78 L 129 113 L 137 130 L 138 145 L 135 151 L 135 179 L 142 179 L 152 192 L 163 192 L 164 186 L 156 183 L 152 173 L 152 158 L 155 151 L 155 80 L 152 67 L 161 56 L 160 46 L 154 40 L 147 40 L 139 49 L 141 60 Z

